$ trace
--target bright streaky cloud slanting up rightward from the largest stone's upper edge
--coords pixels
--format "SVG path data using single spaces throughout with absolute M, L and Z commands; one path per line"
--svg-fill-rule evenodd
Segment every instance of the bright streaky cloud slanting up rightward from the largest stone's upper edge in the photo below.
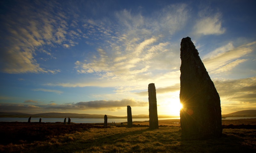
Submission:
M 203 60 L 204 66 L 209 74 L 229 71 L 239 63 L 245 62 L 246 59 L 238 58 L 251 53 L 255 45 L 256 41 L 230 49 L 214 57 L 206 58 Z

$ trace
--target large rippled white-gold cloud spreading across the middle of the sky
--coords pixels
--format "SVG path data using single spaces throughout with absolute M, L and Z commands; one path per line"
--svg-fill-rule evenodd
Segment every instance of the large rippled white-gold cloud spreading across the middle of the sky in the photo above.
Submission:
M 143 63 L 154 65 L 150 62 L 152 58 L 158 61 L 161 57 L 173 55 L 162 53 L 171 45 L 162 41 L 162 37 L 170 36 L 186 23 L 186 7 L 186 4 L 168 5 L 154 12 L 152 18 L 124 9 L 115 13 L 118 26 L 114 28 L 106 26 L 109 24 L 102 23 L 104 21 L 87 20 L 84 30 L 102 32 L 100 39 L 106 43 L 97 48 L 98 54 L 92 55 L 87 62 L 76 61 L 77 72 L 115 80 L 130 80 L 146 73 L 151 66 Z M 96 39 L 95 35 L 92 35 L 93 39 Z

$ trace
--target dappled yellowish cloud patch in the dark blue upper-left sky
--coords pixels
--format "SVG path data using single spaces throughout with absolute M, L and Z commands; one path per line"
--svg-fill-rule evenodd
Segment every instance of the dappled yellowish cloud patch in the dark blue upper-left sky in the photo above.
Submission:
M 19 6 L 17 10 L 9 11 L 1 17 L 3 31 L 5 31 L 2 33 L 1 41 L 6 43 L 1 46 L 0 70 L 11 74 L 47 73 L 48 71 L 36 61 L 35 56 L 41 52 L 55 59 L 52 53 L 43 48 L 61 44 L 63 47 L 71 45 L 67 44 L 68 41 L 70 42 L 67 39 L 69 33 L 68 24 L 65 21 L 67 17 L 58 9 L 59 7 L 54 7 L 55 4 L 46 1 L 14 3 Z M 52 7 L 55 11 L 52 11 Z M 74 44 L 76 43 L 72 43 Z

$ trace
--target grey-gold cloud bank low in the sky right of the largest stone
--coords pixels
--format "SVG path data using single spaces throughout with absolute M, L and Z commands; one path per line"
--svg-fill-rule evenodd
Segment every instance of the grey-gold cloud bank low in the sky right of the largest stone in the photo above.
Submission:
M 220 98 L 240 103 L 256 103 L 256 77 L 244 79 L 214 81 Z

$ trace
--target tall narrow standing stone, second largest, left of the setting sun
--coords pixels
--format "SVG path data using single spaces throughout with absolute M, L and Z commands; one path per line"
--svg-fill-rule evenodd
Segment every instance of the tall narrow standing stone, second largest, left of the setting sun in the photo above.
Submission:
M 148 84 L 148 102 L 149 102 L 149 128 L 158 129 L 158 116 L 156 105 L 156 87 L 155 84 Z

